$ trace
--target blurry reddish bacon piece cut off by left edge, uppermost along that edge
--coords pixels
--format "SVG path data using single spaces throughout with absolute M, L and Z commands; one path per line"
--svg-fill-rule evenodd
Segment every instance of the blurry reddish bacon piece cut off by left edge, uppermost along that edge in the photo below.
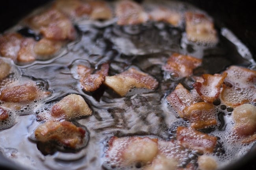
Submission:
M 17 59 L 22 42 L 22 35 L 18 33 L 6 33 L 0 36 L 0 55 L 9 57 L 12 60 Z

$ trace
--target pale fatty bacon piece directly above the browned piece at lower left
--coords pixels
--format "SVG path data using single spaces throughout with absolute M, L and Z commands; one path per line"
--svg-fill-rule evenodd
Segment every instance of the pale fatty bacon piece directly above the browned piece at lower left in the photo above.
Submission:
M 52 106 L 51 115 L 58 118 L 74 119 L 91 115 L 89 108 L 83 97 L 70 94 Z

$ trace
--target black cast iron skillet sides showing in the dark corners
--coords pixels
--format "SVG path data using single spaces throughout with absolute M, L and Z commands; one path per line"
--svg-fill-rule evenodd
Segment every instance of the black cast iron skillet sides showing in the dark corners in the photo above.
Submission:
M 8 0 L 0 4 L 0 33 L 16 24 L 20 18 L 32 9 L 51 0 Z M 218 2 L 215 0 L 184 0 L 207 11 L 215 20 L 217 27 L 230 29 L 250 50 L 256 60 L 256 10 L 253 5 L 243 0 Z M 24 163 L 26 164 L 26 163 Z M 0 169 L 27 170 L 2 156 L 0 152 Z M 235 163 L 223 170 L 256 170 L 256 144 Z

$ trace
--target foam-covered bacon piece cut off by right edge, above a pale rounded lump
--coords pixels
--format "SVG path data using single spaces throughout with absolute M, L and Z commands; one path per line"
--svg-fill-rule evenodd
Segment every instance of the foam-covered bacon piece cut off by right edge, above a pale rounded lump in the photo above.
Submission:
M 256 71 L 239 66 L 231 66 L 227 73 L 221 100 L 227 106 L 256 102 Z

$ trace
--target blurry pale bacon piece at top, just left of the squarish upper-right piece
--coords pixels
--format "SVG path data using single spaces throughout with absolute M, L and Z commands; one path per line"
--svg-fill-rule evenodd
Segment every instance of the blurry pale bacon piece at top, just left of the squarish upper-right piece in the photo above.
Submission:
M 181 15 L 178 12 L 171 11 L 166 7 L 156 7 L 150 12 L 150 19 L 153 21 L 163 21 L 173 26 L 178 26 L 181 21 Z

